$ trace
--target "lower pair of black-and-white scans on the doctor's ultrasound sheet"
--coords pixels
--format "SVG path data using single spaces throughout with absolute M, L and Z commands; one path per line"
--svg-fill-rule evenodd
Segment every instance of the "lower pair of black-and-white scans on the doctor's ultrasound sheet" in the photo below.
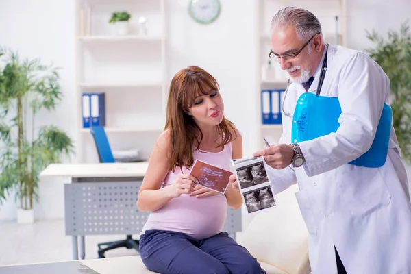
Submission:
M 275 200 L 270 186 L 245 192 L 243 197 L 249 213 L 275 206 Z

